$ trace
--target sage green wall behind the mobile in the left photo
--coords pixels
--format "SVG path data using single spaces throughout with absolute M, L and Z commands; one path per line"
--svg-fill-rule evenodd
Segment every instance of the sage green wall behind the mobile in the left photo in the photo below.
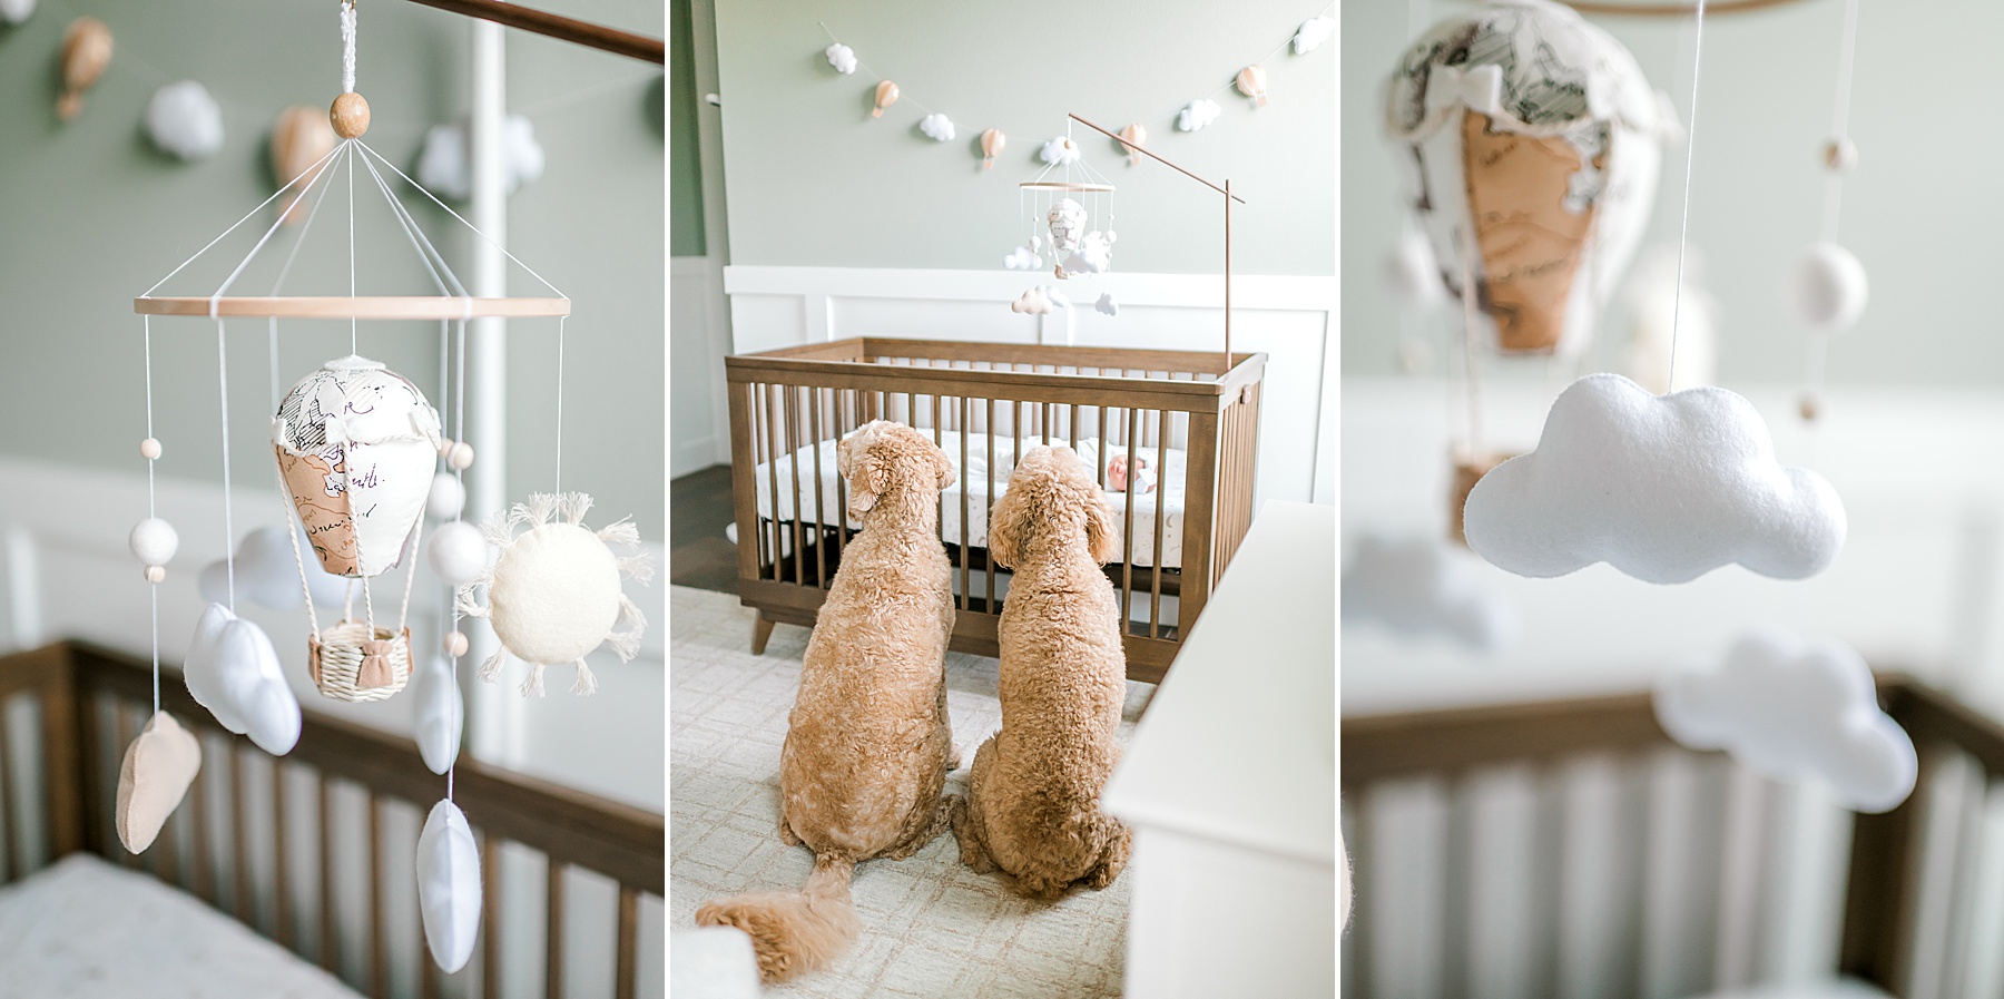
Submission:
M 663 32 L 661 8 L 649 0 L 551 6 Z M 110 24 L 116 54 L 84 112 L 62 124 L 52 112 L 56 54 L 78 14 Z M 271 193 L 273 118 L 287 104 L 327 106 L 339 90 L 335 24 L 333 2 L 42 0 L 26 24 L 0 28 L 0 451 L 142 469 L 142 337 L 130 301 Z M 357 90 L 373 108 L 369 144 L 409 173 L 425 128 L 465 114 L 467 60 L 465 18 L 417 4 L 363 4 Z M 152 90 L 180 78 L 200 80 L 222 106 L 224 146 L 200 162 L 172 160 L 140 132 Z M 507 78 L 511 110 L 529 114 L 547 154 L 543 179 L 509 201 L 509 249 L 575 303 L 563 483 L 591 491 L 613 516 L 631 512 L 645 536 L 661 538 L 661 72 L 509 32 Z M 365 293 L 431 293 L 375 183 L 367 173 L 357 183 L 365 185 L 357 199 Z M 467 275 L 475 237 L 421 201 L 405 191 L 447 261 Z M 287 291 L 347 293 L 345 215 L 345 189 L 337 189 Z M 204 257 L 162 293 L 212 291 L 250 249 L 250 229 L 269 221 L 261 213 L 238 231 L 244 241 L 218 245 L 214 261 Z M 283 249 L 275 243 L 261 263 L 275 267 Z M 224 261 L 224 251 L 234 253 Z M 236 291 L 265 293 L 273 277 L 248 271 Z M 513 293 L 539 291 L 521 273 L 511 283 Z M 283 385 L 349 347 L 343 323 L 287 323 L 279 337 Z M 220 475 L 214 351 L 208 321 L 154 321 L 162 475 Z M 435 391 L 437 327 L 367 325 L 361 351 Z M 228 353 L 234 473 L 244 483 L 269 481 L 265 323 L 230 323 Z M 553 359 L 553 325 L 511 325 L 507 459 L 517 497 L 551 483 Z

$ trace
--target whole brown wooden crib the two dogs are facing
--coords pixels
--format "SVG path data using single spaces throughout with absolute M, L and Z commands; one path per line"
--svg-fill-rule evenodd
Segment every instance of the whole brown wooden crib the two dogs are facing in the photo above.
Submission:
M 1106 574 L 1128 608 L 1128 678 L 1160 680 L 1252 522 L 1265 365 L 1265 353 L 1226 367 L 1220 353 L 882 337 L 727 357 L 737 584 L 760 612 L 754 652 L 776 622 L 814 624 L 854 534 L 832 443 L 896 419 L 932 435 L 960 471 L 940 500 L 960 652 L 998 652 L 1008 574 L 984 548 L 988 504 L 1006 483 L 998 463 L 1062 443 L 1092 451 L 1102 487 L 1116 457 L 1154 469 L 1152 497 L 1110 493 L 1122 556 Z

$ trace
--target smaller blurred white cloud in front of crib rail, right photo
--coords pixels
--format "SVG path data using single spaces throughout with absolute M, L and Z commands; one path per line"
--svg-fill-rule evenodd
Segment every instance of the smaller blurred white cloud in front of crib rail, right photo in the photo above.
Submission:
M 1822 780 L 1860 812 L 1896 808 L 1920 770 L 1858 652 L 1776 628 L 1739 638 L 1719 664 L 1665 674 L 1655 718 L 1677 742 L 1725 750 L 1770 780 Z

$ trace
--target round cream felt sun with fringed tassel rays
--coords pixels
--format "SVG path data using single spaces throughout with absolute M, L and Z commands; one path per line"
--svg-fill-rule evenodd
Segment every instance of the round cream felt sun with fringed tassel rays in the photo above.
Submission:
M 495 512 L 481 524 L 487 544 L 501 550 L 493 568 L 459 588 L 459 610 L 489 618 L 501 648 L 481 664 L 493 682 L 507 656 L 529 664 L 521 692 L 543 696 L 543 668 L 575 664 L 573 694 L 599 688 L 585 654 L 609 646 L 619 662 L 639 652 L 647 620 L 621 592 L 621 580 L 647 582 L 653 566 L 645 554 L 615 556 L 607 544 L 637 546 L 639 532 L 621 520 L 601 532 L 583 526 L 591 497 L 585 493 L 533 493 L 515 510 Z M 527 526 L 523 534 L 517 528 Z M 477 594 L 487 594 L 487 604 Z M 615 626 L 625 630 L 615 632 Z

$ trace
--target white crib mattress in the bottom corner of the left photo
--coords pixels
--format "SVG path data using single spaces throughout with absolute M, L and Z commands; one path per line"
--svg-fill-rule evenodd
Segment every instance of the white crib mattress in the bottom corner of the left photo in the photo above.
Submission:
M 0 889 L 0 999 L 359 999 L 200 899 L 92 855 Z

